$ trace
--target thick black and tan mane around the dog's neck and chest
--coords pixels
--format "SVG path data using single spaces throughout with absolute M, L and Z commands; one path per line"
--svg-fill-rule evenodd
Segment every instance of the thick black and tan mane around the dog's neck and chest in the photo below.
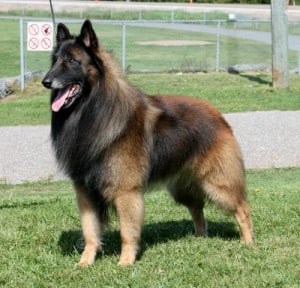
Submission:
M 73 38 L 74 44 L 83 45 L 78 37 Z M 90 49 L 89 53 L 93 53 L 92 56 L 102 67 L 93 72 L 93 85 L 88 84 L 88 95 L 83 95 L 75 108 L 71 107 L 62 113 L 52 112 L 54 148 L 60 165 L 69 174 L 79 174 L 71 171 L 73 167 L 84 169 L 85 163 L 90 163 L 87 160 L 101 157 L 101 152 L 125 133 L 128 122 L 136 117 L 138 107 L 147 105 L 144 94 L 128 83 L 111 53 L 99 43 L 97 49 Z M 94 131 L 101 133 L 87 137 Z M 88 151 L 83 151 L 81 146 L 86 147 L 86 139 L 93 139 L 93 142 L 88 144 Z M 73 143 L 79 144 L 72 147 Z M 76 157 L 77 160 L 81 159 L 77 165 L 71 163 L 74 153 L 81 155 Z

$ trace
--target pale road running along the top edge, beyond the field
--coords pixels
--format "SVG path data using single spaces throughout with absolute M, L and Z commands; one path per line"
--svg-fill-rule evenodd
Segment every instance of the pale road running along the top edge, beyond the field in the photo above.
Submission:
M 213 4 L 213 3 L 158 3 L 158 2 L 134 2 L 134 1 L 72 1 L 72 0 L 53 0 L 55 12 L 72 10 L 80 11 L 89 9 L 119 9 L 119 10 L 184 10 L 188 12 L 211 12 L 222 11 L 226 13 L 237 13 L 252 15 L 258 19 L 270 18 L 270 5 L 251 5 L 251 4 Z M 31 8 L 34 10 L 49 10 L 49 0 L 0 0 L 0 10 L 12 10 Z M 289 20 L 300 19 L 299 5 L 290 5 L 287 10 Z

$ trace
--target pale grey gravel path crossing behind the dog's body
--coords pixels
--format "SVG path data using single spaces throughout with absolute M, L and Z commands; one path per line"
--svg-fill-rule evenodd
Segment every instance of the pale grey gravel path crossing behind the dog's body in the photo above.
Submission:
M 300 166 L 300 111 L 225 114 L 247 169 Z M 0 183 L 62 179 L 49 126 L 0 127 Z

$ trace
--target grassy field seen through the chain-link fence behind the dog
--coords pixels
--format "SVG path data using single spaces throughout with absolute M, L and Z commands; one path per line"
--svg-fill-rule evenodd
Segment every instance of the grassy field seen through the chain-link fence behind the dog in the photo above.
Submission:
M 94 19 L 94 18 L 92 18 Z M 72 21 L 69 19 L 69 21 Z M 80 23 L 69 24 L 72 32 L 78 33 Z M 26 22 L 24 34 L 26 38 Z M 216 28 L 216 22 L 210 23 Z M 232 23 L 223 23 L 222 27 L 234 28 Z M 237 29 L 251 29 L 264 31 L 268 25 L 257 27 L 238 26 Z M 297 25 L 291 25 L 296 26 Z M 101 43 L 108 50 L 112 50 L 121 62 L 122 55 L 122 23 L 94 25 Z M 270 25 L 269 25 L 270 29 Z M 298 28 L 297 28 L 298 29 Z M 7 33 L 9 31 L 9 33 Z M 0 46 L 0 60 L 2 68 L 0 77 L 16 76 L 20 74 L 20 36 L 19 22 L 12 19 L 0 19 L 0 37 L 3 45 Z M 216 34 L 207 34 L 176 29 L 159 29 L 135 27 L 134 24 L 126 26 L 126 61 L 127 71 L 170 72 L 170 71 L 214 71 L 216 69 Z M 192 40 L 205 41 L 203 45 L 176 45 L 161 46 L 148 44 L 145 41 L 164 40 Z M 24 43 L 25 47 L 26 41 Z M 259 51 L 259 53 L 258 53 Z M 46 71 L 49 66 L 50 53 L 25 51 L 25 71 Z M 235 64 L 264 64 L 271 67 L 271 47 L 262 42 L 237 39 L 233 37 L 220 37 L 220 63 L 219 69 L 226 70 Z M 289 67 L 295 69 L 298 65 L 296 51 L 289 52 Z

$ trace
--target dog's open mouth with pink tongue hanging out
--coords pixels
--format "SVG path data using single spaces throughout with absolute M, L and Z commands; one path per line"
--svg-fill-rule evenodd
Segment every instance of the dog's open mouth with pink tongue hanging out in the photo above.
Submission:
M 65 88 L 59 89 L 52 102 L 52 111 L 58 112 L 62 107 L 69 107 L 80 93 L 81 86 L 77 83 L 73 83 Z

